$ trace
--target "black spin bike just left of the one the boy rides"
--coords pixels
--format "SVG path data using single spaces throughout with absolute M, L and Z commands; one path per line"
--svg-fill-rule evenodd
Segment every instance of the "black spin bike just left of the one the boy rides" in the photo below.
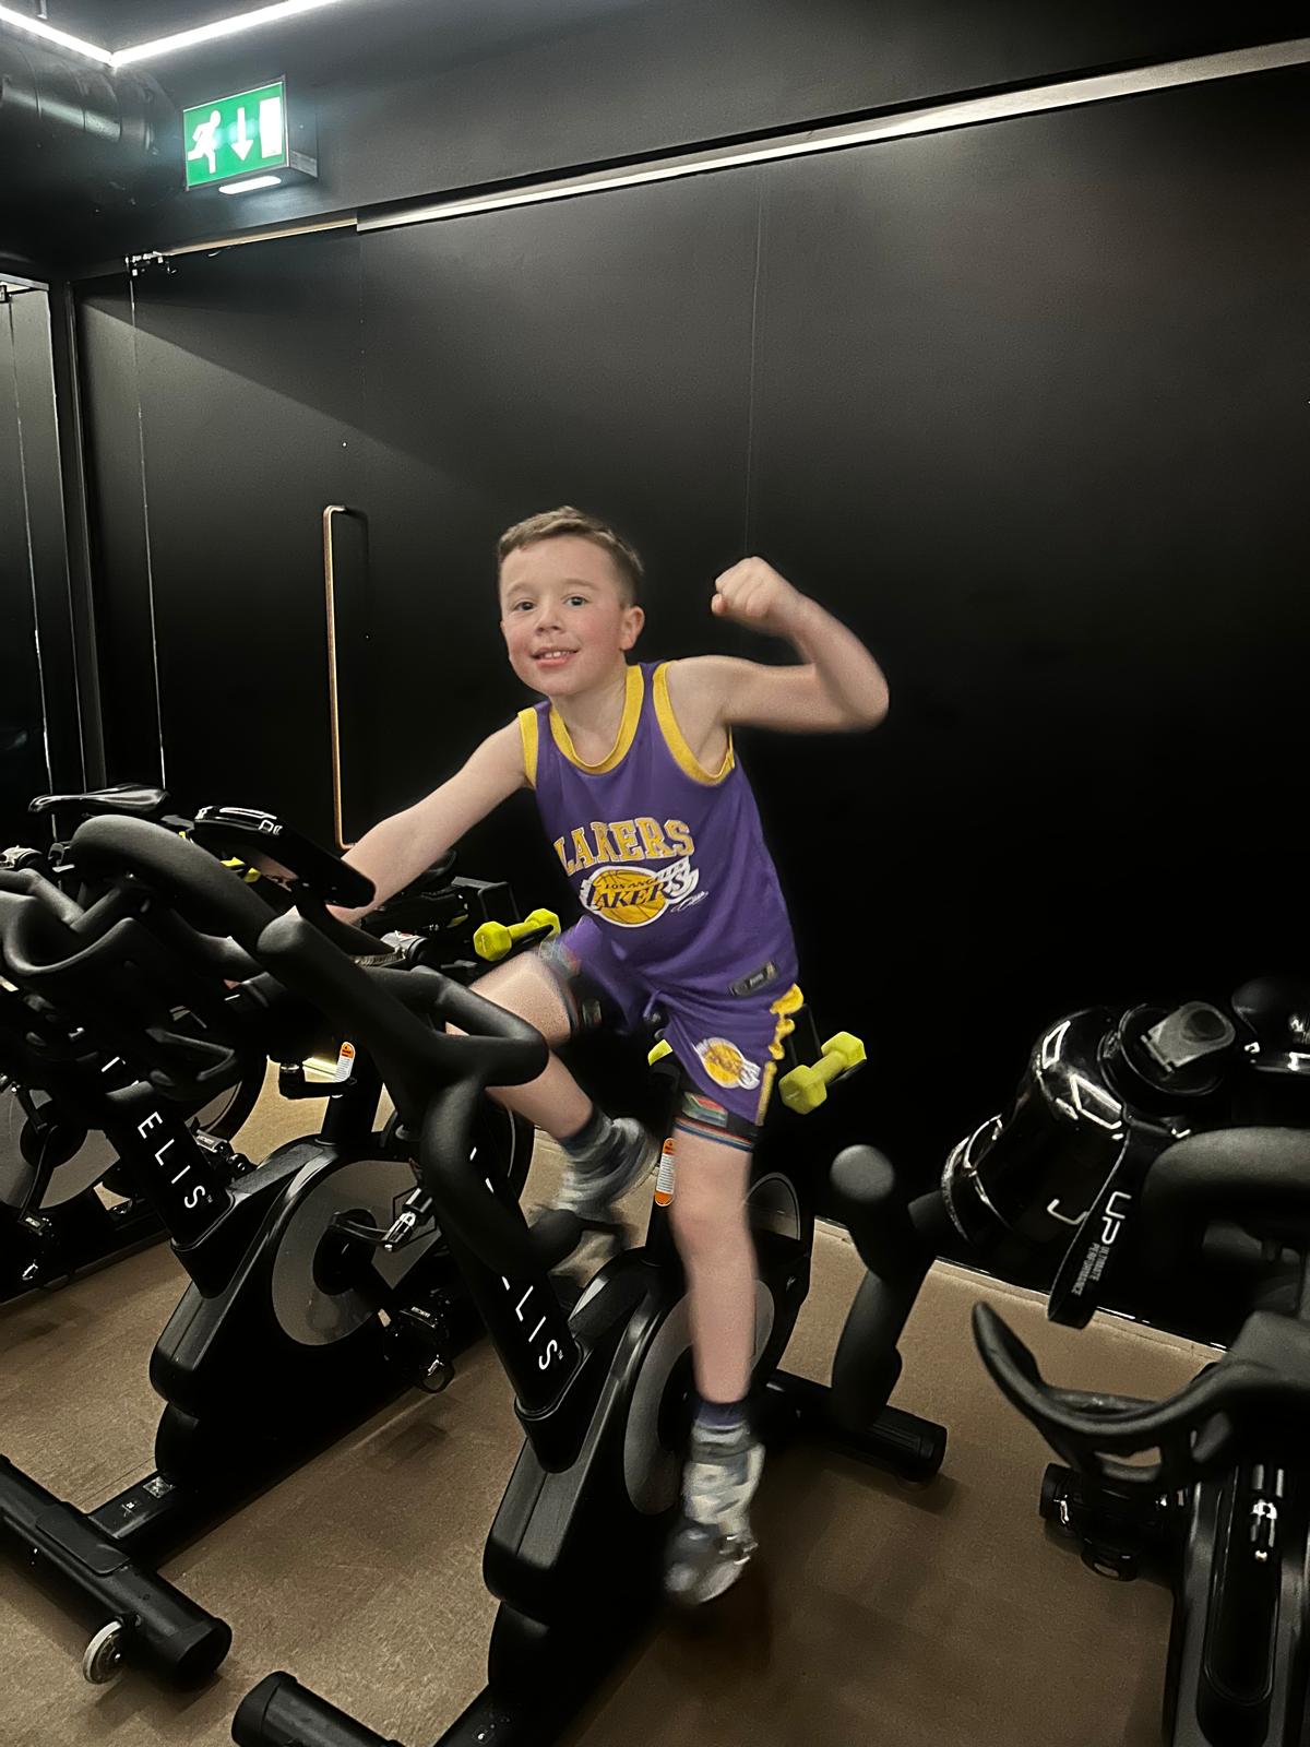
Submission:
M 84 1048 L 126 1064 L 101 1123 L 192 1284 L 150 1361 L 166 1403 L 154 1473 L 82 1513 L 0 1459 L 0 1536 L 98 1626 L 89 1679 L 134 1661 L 185 1686 L 217 1667 L 231 1628 L 150 1565 L 400 1389 L 444 1387 L 477 1319 L 442 1233 L 410 1205 L 405 1153 L 374 1130 L 383 1076 L 367 1050 L 344 1046 L 334 1083 L 313 1088 L 327 1101 L 321 1130 L 257 1169 L 234 1176 L 190 1130 L 189 1109 L 231 1083 L 252 1046 L 299 1064 L 328 1031 L 243 950 L 269 908 L 199 844 L 141 819 L 89 821 L 72 854 L 101 896 L 84 912 L 61 893 L 14 900 L 7 975 L 33 1013 L 73 1015 Z M 321 889 L 369 900 L 362 875 L 320 856 Z M 379 954 L 327 912 L 320 922 Z M 479 1169 L 514 1200 L 527 1127 L 489 1102 L 468 1116 Z

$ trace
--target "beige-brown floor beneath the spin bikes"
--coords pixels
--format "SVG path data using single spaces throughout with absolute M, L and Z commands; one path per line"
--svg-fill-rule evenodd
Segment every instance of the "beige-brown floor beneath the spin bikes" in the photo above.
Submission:
M 243 1144 L 295 1132 L 264 1106 Z M 823 1232 L 788 1363 L 826 1377 L 859 1265 Z M 178 1296 L 154 1249 L 0 1312 L 0 1448 L 89 1506 L 143 1471 L 157 1405 L 145 1359 Z M 1121 1321 L 1055 1329 L 1020 1293 L 936 1268 L 903 1342 L 896 1401 L 950 1429 L 924 1490 L 796 1450 L 767 1474 L 762 1555 L 709 1618 L 665 1625 L 575 1731 L 585 1747 L 1148 1747 L 1169 1599 L 1092 1578 L 1036 1516 L 1046 1459 L 1001 1401 L 968 1331 L 1003 1302 L 1050 1373 L 1132 1394 L 1177 1387 L 1198 1350 Z M 482 1684 L 493 1605 L 482 1539 L 519 1445 L 493 1356 L 409 1398 L 175 1558 L 168 1576 L 227 1618 L 232 1654 L 201 1693 L 136 1677 L 89 1688 L 84 1633 L 0 1565 L 0 1747 L 227 1742 L 271 1668 L 290 1668 L 383 1735 L 428 1747 Z

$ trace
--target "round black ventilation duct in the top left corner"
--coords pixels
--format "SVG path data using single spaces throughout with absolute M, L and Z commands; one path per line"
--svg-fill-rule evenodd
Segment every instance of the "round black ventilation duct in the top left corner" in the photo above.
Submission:
M 182 185 L 182 115 L 154 79 L 0 26 L 0 215 L 47 224 L 148 206 Z

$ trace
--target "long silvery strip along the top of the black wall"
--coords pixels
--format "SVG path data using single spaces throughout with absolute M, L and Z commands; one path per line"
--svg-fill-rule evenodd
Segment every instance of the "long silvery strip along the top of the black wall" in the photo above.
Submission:
M 926 133 L 945 133 L 952 128 L 976 128 L 982 122 L 1013 121 L 1020 115 L 1038 115 L 1045 110 L 1106 103 L 1113 98 L 1141 96 L 1149 91 L 1169 91 L 1177 86 L 1203 84 L 1216 79 L 1238 79 L 1245 73 L 1266 73 L 1284 66 L 1301 66 L 1307 61 L 1310 61 L 1310 37 L 1300 37 L 1294 42 L 1275 42 L 1258 49 L 1235 49 L 1226 54 L 1202 54 L 1184 61 L 1142 66 L 1127 73 L 1099 73 L 1090 79 L 1069 79 L 1060 84 L 1034 86 L 1027 91 L 966 98 L 957 103 L 934 103 L 898 115 L 882 115 L 863 122 L 838 122 L 831 128 L 810 128 L 803 133 L 727 145 L 713 152 L 690 152 L 683 157 L 665 157 L 646 164 L 597 169 L 592 175 L 534 182 L 527 187 L 508 189 L 503 194 L 426 201 L 423 206 L 409 206 L 403 211 L 391 210 L 376 213 L 374 217 L 362 215 L 360 231 L 391 231 L 407 224 L 431 224 L 438 218 L 466 218 L 473 213 L 503 211 L 510 206 L 534 206 L 543 201 L 569 199 L 576 194 L 603 194 L 611 189 L 632 189 L 650 182 L 672 182 L 678 176 L 707 175 L 714 169 L 741 169 L 748 164 L 769 164 L 786 157 L 809 157 L 816 152 L 835 152 L 844 147 L 875 145 L 884 140 L 905 140 Z

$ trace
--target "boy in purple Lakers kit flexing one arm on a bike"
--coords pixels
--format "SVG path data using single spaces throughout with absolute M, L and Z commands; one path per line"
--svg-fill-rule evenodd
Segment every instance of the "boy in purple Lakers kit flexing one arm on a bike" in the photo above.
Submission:
M 671 1218 L 700 1406 L 665 1583 L 702 1602 L 735 1581 L 755 1546 L 748 1509 L 763 1454 L 746 1413 L 755 1253 L 744 1204 L 777 1041 L 800 1001 L 791 924 L 732 728 L 872 728 L 887 685 L 851 631 L 758 557 L 718 578 L 711 610 L 786 638 L 803 666 L 725 655 L 631 666 L 641 575 L 636 552 L 575 508 L 501 535 L 501 631 L 541 702 L 346 860 L 383 903 L 527 784 L 583 919 L 479 991 L 552 1046 L 603 1008 L 627 1027 L 657 1003 L 669 1017 L 683 1069 Z M 559 1141 L 569 1164 L 561 1204 L 575 1212 L 606 1218 L 653 1162 L 650 1136 L 632 1118 L 611 1122 L 554 1055 L 540 1080 L 496 1095 Z

